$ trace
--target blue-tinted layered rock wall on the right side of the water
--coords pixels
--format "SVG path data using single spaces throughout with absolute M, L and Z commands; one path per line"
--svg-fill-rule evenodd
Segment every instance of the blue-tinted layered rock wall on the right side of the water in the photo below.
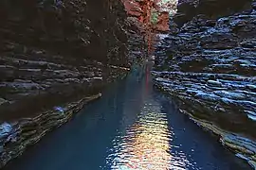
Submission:
M 155 86 L 255 167 L 256 10 L 200 14 L 158 45 Z M 175 26 L 175 25 L 174 25 Z M 172 30 L 172 28 L 171 28 Z

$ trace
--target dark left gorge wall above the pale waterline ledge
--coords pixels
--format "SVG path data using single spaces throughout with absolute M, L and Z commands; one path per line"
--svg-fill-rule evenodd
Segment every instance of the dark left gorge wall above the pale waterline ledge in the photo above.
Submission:
M 129 25 L 118 0 L 1 1 L 0 13 L 1 121 L 89 93 L 84 87 L 95 89 L 129 67 Z M 25 110 L 31 101 L 34 110 Z

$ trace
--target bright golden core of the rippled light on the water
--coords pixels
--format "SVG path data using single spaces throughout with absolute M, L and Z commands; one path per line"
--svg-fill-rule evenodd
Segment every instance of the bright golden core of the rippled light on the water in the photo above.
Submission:
M 168 140 L 168 127 L 166 121 L 148 121 L 155 113 L 147 113 L 138 124 L 130 130 L 135 131 L 133 139 L 127 142 L 122 152 L 134 153 L 126 165 L 130 169 L 168 169 L 171 155 L 168 153 L 170 146 Z

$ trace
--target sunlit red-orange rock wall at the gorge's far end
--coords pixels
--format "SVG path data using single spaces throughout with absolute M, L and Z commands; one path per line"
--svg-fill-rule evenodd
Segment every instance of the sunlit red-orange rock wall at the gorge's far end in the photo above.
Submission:
M 155 43 L 158 42 L 155 35 L 159 32 L 169 30 L 170 12 L 175 10 L 174 1 L 121 0 L 129 15 L 128 20 L 136 26 L 139 31 L 139 36 L 134 36 L 137 37 L 137 39 L 133 39 L 133 42 L 139 42 L 139 44 L 146 42 L 143 48 L 135 51 L 137 54 L 142 54 L 143 56 L 153 55 Z M 144 49 L 147 50 L 144 51 Z M 130 56 L 136 56 L 137 54 Z

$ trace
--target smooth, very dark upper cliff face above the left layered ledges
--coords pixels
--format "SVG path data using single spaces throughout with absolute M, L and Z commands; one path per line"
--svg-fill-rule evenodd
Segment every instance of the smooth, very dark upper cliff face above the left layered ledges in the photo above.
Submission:
M 4 40 L 31 44 L 76 59 L 127 64 L 123 44 L 127 37 L 121 30 L 127 28 L 126 15 L 119 1 L 12 0 L 2 1 L 0 6 L 0 33 Z

